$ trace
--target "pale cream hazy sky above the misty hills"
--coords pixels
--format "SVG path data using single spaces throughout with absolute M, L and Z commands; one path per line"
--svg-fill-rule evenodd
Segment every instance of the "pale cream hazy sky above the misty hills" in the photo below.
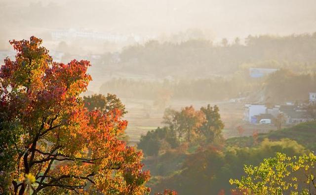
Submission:
M 316 0 L 0 0 L 0 24 L 5 40 L 69 28 L 157 36 L 200 29 L 216 39 L 284 35 L 316 32 Z

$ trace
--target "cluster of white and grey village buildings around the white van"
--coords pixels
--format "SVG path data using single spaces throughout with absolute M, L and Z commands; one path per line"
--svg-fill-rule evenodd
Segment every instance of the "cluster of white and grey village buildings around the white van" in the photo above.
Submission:
M 316 93 L 310 93 L 309 103 L 316 103 Z M 312 120 L 307 114 L 308 103 L 267 106 L 264 104 L 245 104 L 244 121 L 257 124 L 261 120 L 273 120 L 282 114 L 286 124 L 295 124 Z

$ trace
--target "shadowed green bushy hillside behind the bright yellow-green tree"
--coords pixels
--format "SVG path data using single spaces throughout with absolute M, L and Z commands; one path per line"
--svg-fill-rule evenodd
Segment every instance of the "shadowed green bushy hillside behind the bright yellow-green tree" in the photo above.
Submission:
M 175 189 L 183 195 L 234 194 L 228 181 L 244 175 L 244 164 L 256 166 L 277 153 L 289 157 L 308 154 L 316 148 L 315 132 L 316 122 L 309 122 L 270 133 L 230 138 L 225 143 L 182 142 L 177 148 L 162 148 L 159 155 L 144 160 L 153 176 L 149 185 L 154 190 L 162 186 Z

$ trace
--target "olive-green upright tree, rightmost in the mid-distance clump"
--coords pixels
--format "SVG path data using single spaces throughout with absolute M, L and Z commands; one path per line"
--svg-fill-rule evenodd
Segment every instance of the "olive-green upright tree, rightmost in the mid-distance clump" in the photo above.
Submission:
M 201 107 L 201 112 L 204 113 L 205 120 L 198 131 L 201 132 L 208 142 L 214 141 L 221 137 L 224 123 L 221 120 L 218 106 L 211 107 L 209 104 L 207 107 Z

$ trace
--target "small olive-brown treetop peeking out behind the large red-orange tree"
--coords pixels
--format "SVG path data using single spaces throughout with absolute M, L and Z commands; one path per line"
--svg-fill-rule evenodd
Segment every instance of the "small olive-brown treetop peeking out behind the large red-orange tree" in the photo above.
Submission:
M 88 108 L 89 111 L 101 110 L 104 113 L 108 113 L 114 109 L 118 109 L 121 116 L 127 113 L 125 110 L 125 105 L 120 101 L 120 99 L 114 95 L 109 94 L 104 96 L 102 94 L 94 94 L 92 96 L 83 96 L 84 106 Z

